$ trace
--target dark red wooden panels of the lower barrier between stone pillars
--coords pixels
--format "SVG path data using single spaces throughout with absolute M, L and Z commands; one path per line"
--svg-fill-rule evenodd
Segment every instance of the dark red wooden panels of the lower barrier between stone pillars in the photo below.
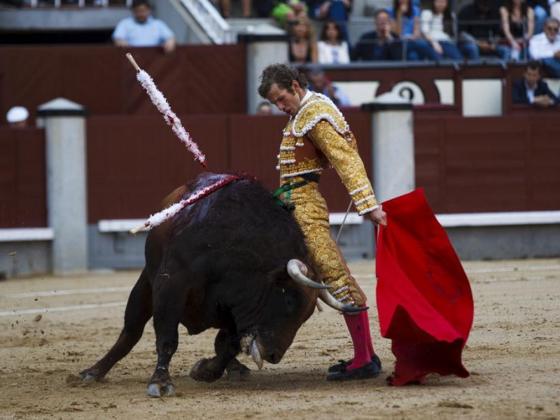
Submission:
M 560 142 L 554 113 L 461 118 L 415 112 L 416 186 L 436 213 L 560 209 Z M 270 189 L 285 116 L 181 116 L 212 172 L 248 172 Z M 371 170 L 370 114 L 348 111 Z M 44 132 L 0 129 L 0 228 L 47 225 Z M 202 171 L 159 116 L 87 120 L 88 221 L 144 218 Z M 330 211 L 349 197 L 334 171 L 321 189 Z

